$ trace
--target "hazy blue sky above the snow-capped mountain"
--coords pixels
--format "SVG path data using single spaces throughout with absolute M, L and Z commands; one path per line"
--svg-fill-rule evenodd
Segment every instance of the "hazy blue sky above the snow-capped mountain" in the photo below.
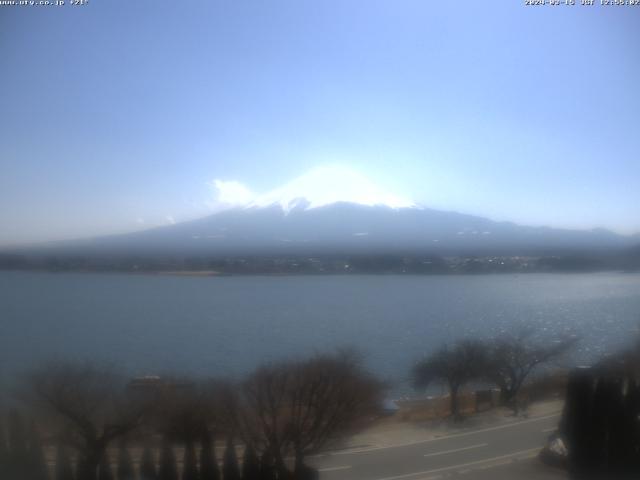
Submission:
M 640 7 L 523 3 L 0 7 L 0 244 L 201 216 L 216 179 L 264 193 L 326 164 L 640 231 Z

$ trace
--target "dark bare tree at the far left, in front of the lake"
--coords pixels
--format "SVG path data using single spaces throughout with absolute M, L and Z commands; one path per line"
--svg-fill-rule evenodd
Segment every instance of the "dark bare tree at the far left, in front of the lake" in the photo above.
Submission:
M 79 452 L 78 480 L 95 480 L 106 448 L 137 428 L 149 404 L 109 367 L 50 363 L 29 377 L 34 405 Z

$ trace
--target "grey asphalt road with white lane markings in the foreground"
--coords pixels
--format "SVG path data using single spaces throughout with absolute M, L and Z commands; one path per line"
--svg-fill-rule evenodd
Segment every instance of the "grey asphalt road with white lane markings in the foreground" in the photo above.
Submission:
M 559 414 L 462 431 L 411 443 L 363 447 L 312 459 L 322 480 L 564 478 L 534 457 L 555 430 Z

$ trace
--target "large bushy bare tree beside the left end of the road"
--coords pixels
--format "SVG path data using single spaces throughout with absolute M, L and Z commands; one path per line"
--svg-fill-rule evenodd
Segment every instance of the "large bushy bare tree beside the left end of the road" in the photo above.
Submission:
M 297 474 L 306 455 L 351 433 L 377 412 L 383 385 L 357 356 L 338 352 L 306 361 L 261 367 L 244 385 L 245 418 L 253 418 L 280 475 L 295 455 Z

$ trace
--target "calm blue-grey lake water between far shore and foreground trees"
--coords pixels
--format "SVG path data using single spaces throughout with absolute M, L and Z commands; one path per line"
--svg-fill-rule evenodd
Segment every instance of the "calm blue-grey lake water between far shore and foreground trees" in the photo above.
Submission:
M 412 363 L 463 336 L 581 336 L 577 361 L 630 341 L 639 274 L 177 277 L 0 272 L 0 375 L 97 358 L 132 374 L 239 375 L 351 345 L 403 390 Z

